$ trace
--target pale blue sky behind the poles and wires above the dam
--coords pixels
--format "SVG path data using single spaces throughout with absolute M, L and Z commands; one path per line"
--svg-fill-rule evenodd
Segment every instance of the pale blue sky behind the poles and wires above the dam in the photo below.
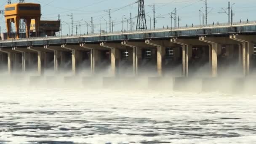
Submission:
M 12 3 L 17 3 L 19 0 L 12 0 Z M 208 0 L 208 24 L 225 23 L 227 22 L 227 14 L 219 13 L 223 12 L 221 8 L 227 8 L 227 3 L 230 1 L 233 5 L 233 12 L 235 13 L 233 21 L 256 20 L 256 0 Z M 121 30 L 121 17 L 129 17 L 129 13 L 132 13 L 134 28 L 136 28 L 137 19 L 135 16 L 138 14 L 138 3 L 136 0 L 25 0 L 27 3 L 40 3 L 42 20 L 57 20 L 58 14 L 61 15 L 63 35 L 67 35 L 69 32 L 68 24 L 70 24 L 71 32 L 71 19 L 68 14 L 73 13 L 74 18 L 74 34 L 75 25 L 79 25 L 78 21 L 81 20 L 81 33 L 86 33 L 87 28 L 85 21 L 89 23 L 91 16 L 93 16 L 93 23 L 95 23 L 95 32 L 99 32 L 99 19 L 101 19 L 101 29 L 106 29 L 106 21 L 109 22 L 109 16 L 106 12 L 112 9 L 112 21 L 114 21 L 114 31 Z M 171 26 L 171 19 L 168 13 L 177 8 L 177 14 L 181 21 L 180 26 L 186 24 L 199 24 L 199 9 L 204 6 L 201 0 L 145 0 L 145 13 L 147 16 L 147 27 L 150 27 L 149 16 L 152 17 L 153 27 L 153 11 L 148 5 L 155 3 L 156 17 L 160 17 L 156 21 L 156 28 L 163 26 Z M 1 0 L 0 10 L 4 10 L 4 5 L 7 4 L 7 0 Z M 202 8 L 205 11 L 205 8 Z M 0 26 L 2 32 L 6 32 L 4 16 L 0 15 Z M 127 29 L 127 22 L 124 19 L 124 29 Z M 77 34 L 79 34 L 79 26 L 77 26 Z M 90 29 L 90 27 L 88 28 Z M 109 24 L 108 24 L 109 31 Z

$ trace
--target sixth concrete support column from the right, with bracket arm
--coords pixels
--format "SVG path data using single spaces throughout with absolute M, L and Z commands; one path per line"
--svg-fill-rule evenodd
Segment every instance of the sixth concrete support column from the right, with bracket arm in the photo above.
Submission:
M 112 75 L 116 76 L 118 74 L 118 68 L 120 67 L 120 50 L 115 48 L 115 47 L 111 47 L 109 45 L 107 45 L 106 43 L 100 43 L 100 46 L 105 47 L 105 48 L 109 48 L 111 50 L 111 69 L 112 69 Z

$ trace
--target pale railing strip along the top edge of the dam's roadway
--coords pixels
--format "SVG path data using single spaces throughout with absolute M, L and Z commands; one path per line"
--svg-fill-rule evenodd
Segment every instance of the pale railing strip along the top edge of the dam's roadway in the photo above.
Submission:
M 62 36 L 49 36 L 49 37 L 30 37 L 21 39 L 11 40 L 0 40 L 0 42 L 15 42 L 15 41 L 26 41 L 26 40 L 51 40 L 51 39 L 62 39 L 62 38 L 78 38 L 78 37 L 93 37 L 93 36 L 107 36 L 107 35 L 127 35 L 136 33 L 152 33 L 152 32 L 165 32 L 165 31 L 182 31 L 182 30 L 193 30 L 193 29 L 214 29 L 220 27 L 242 27 L 248 25 L 256 25 L 256 21 L 240 21 L 234 23 L 217 23 L 207 25 L 191 25 L 186 27 L 166 27 L 159 29 L 146 29 L 146 30 L 134 30 L 134 31 L 116 31 L 108 33 L 94 33 L 87 35 L 62 35 Z

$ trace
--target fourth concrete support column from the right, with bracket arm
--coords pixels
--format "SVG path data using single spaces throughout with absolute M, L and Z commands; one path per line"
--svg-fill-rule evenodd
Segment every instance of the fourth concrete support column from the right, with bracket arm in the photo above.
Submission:
M 163 66 L 165 65 L 165 47 L 163 45 L 146 40 L 146 44 L 153 45 L 157 48 L 157 73 L 161 77 L 163 76 Z

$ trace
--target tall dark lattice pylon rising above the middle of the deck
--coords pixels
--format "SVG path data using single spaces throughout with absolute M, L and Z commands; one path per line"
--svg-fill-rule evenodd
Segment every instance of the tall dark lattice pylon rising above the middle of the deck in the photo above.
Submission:
M 138 0 L 137 3 L 139 3 L 139 7 L 138 7 L 138 16 L 137 16 L 138 19 L 137 19 L 136 30 L 147 29 L 144 0 Z

